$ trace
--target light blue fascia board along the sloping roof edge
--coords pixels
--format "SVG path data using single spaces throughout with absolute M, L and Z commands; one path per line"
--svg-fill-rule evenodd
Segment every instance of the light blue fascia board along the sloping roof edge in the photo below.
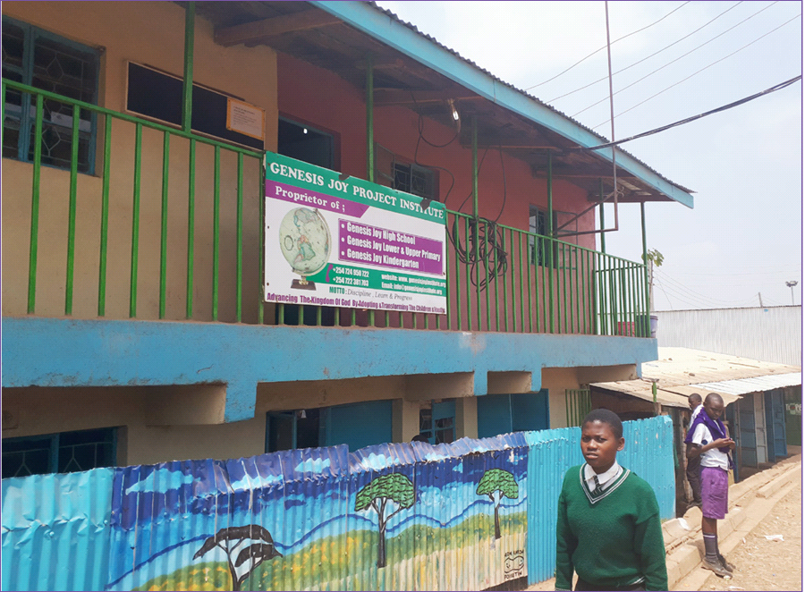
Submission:
M 395 21 L 370 4 L 333 0 L 311 0 L 310 4 L 337 16 L 355 29 L 376 38 L 389 47 L 394 47 L 402 54 L 408 55 L 411 59 L 428 66 L 496 105 L 503 106 L 548 130 L 555 131 L 582 148 L 591 148 L 601 144 L 601 138 L 585 130 L 569 117 L 558 114 L 537 100 L 502 84 L 486 72 L 482 72 L 477 66 L 473 66 L 445 48 L 437 46 L 425 36 L 406 27 L 402 22 Z M 608 148 L 601 148 L 596 152 L 611 162 L 611 156 L 607 154 L 610 152 Z M 628 154 L 624 154 L 623 151 L 615 150 L 615 163 L 668 199 L 693 208 L 693 196 L 690 193 L 666 181 L 648 169 L 646 165 Z

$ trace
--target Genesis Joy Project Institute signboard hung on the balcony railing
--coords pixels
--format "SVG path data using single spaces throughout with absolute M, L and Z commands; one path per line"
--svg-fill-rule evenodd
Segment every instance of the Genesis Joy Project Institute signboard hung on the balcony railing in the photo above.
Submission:
M 446 314 L 445 205 L 266 155 L 267 302 Z

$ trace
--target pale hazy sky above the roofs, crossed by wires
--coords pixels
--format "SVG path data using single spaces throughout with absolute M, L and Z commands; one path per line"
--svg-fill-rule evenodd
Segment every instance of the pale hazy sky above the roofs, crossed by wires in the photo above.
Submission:
M 604 2 L 377 4 L 612 138 Z M 615 139 L 801 75 L 801 8 L 790 1 L 610 2 Z M 693 209 L 674 202 L 646 206 L 648 249 L 664 257 L 654 309 L 801 304 L 801 89 L 798 80 L 622 145 L 694 192 Z M 612 205 L 606 220 L 611 226 Z M 618 222 L 618 232 L 606 233 L 606 252 L 640 260 L 640 206 L 622 204 Z M 797 285 L 790 288 L 792 281 Z

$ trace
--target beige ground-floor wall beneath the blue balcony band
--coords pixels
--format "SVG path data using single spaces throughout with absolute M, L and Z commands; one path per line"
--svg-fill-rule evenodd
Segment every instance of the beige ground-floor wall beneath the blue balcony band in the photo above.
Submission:
M 394 441 L 410 442 L 419 434 L 419 408 L 429 399 L 411 389 L 408 378 L 263 383 L 254 419 L 229 424 L 220 423 L 223 385 L 6 388 L 3 437 L 119 427 L 120 465 L 240 458 L 265 452 L 267 411 L 391 399 Z M 456 399 L 456 436 L 478 437 L 477 422 L 474 395 Z

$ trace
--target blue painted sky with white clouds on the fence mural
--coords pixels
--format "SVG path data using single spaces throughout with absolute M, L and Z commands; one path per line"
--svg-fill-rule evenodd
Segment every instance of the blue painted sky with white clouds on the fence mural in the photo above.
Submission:
M 489 450 L 511 439 L 522 447 Z M 334 533 L 375 530 L 377 512 L 356 511 L 355 496 L 388 473 L 408 477 L 416 499 L 411 509 L 389 520 L 388 537 L 415 524 L 450 528 L 470 516 L 494 512 L 489 497 L 476 492 L 487 469 L 513 473 L 520 482 L 517 498 L 505 499 L 501 506 L 503 512 L 525 512 L 522 480 L 528 456 L 522 436 L 435 447 L 380 444 L 353 454 L 348 450 L 340 445 L 231 461 L 174 461 L 119 469 L 113 507 L 121 511 L 113 520 L 113 546 L 121 552 L 112 554 L 110 588 L 137 588 L 157 572 L 197 562 L 193 555 L 204 540 L 228 526 L 267 527 L 283 554 L 299 552 Z M 460 456 L 468 450 L 476 453 Z M 443 503 L 446 497 L 462 503 Z M 188 538 L 191 524 L 194 536 Z M 158 534 L 142 535 L 152 529 Z M 199 562 L 225 559 L 223 551 L 213 550 Z

